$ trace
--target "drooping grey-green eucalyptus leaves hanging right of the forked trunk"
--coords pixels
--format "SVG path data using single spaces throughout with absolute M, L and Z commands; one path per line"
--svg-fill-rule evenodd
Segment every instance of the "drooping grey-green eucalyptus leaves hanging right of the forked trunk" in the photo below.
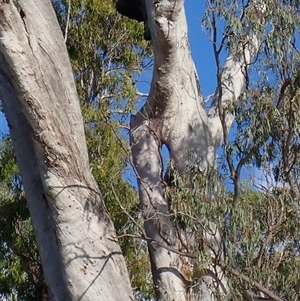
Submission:
M 225 253 L 215 254 L 214 264 L 228 276 L 230 300 L 249 298 L 247 290 L 256 298 L 268 297 L 257 283 L 280 300 L 296 300 L 300 277 L 299 2 L 265 1 L 264 24 L 249 14 L 246 1 L 207 4 L 202 25 L 212 39 L 218 80 L 225 54 L 230 50 L 243 55 L 248 43 L 245 28 L 257 28 L 261 48 L 244 70 L 244 92 L 223 108 L 234 114 L 235 124 L 229 133 L 223 126 L 219 176 L 192 168 L 192 176 L 182 179 L 174 171 L 167 196 L 174 218 L 187 233 L 196 229 L 199 246 L 210 246 L 204 235 L 212 230 L 210 222 L 223 234 Z M 207 197 L 208 191 L 213 191 L 213 199 Z M 190 250 L 201 270 L 210 261 L 209 252 L 195 246 Z

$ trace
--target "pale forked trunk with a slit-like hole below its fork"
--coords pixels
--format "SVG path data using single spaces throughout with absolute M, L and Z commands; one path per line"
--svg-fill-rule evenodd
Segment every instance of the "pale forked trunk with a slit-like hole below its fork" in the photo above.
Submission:
M 220 109 L 240 95 L 244 68 L 256 56 L 259 43 L 252 29 L 245 29 L 244 55 L 229 55 L 207 113 L 191 58 L 183 4 L 184 0 L 146 1 L 147 15 L 152 16 L 148 27 L 155 64 L 148 100 L 131 118 L 131 148 L 157 299 L 224 300 L 229 290 L 219 266 L 204 264 L 200 267 L 204 273 L 195 278 L 193 234 L 183 239 L 164 197 L 161 146 L 168 147 L 181 174 L 191 166 L 202 171 L 215 167 L 223 127 L 229 129 L 233 122 L 228 112 L 220 118 Z M 207 251 L 215 256 L 223 251 L 221 236 L 213 223 L 210 228 L 214 234 L 203 237 Z

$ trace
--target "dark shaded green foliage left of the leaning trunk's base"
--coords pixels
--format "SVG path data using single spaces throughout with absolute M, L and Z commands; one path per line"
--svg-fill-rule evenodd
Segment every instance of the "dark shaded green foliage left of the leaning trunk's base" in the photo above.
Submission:
M 0 197 L 0 294 L 8 300 L 43 300 L 42 266 L 9 137 L 0 146 Z

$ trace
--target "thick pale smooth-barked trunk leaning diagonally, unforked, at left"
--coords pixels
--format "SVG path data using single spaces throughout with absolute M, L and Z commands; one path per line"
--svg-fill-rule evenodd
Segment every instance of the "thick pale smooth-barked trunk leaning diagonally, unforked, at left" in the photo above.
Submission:
M 132 300 L 49 0 L 0 3 L 0 99 L 51 300 Z

